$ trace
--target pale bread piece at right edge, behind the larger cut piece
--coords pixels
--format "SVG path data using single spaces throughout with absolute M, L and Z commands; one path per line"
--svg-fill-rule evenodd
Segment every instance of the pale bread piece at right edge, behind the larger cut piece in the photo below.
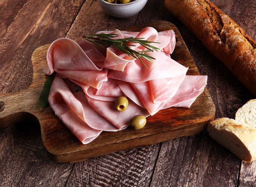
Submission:
M 256 99 L 251 99 L 238 109 L 236 121 L 244 126 L 256 128 Z

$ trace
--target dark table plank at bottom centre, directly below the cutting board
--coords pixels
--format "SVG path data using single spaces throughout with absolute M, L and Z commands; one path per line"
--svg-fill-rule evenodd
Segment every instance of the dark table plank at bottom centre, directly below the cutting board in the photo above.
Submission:
M 158 144 L 119 151 L 76 163 L 68 186 L 148 186 Z

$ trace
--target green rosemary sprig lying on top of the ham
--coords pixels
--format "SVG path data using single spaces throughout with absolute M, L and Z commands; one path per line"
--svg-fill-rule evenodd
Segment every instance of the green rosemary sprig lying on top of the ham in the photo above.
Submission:
M 146 68 L 148 67 L 146 66 L 146 64 L 144 64 L 142 60 L 147 60 L 148 62 L 151 62 L 151 63 L 152 61 L 150 59 L 156 60 L 152 56 L 149 56 L 147 53 L 153 52 L 154 50 L 155 51 L 160 50 L 159 48 L 156 48 L 155 46 L 150 45 L 151 43 L 159 44 L 159 42 L 150 42 L 147 40 L 143 40 L 145 38 L 134 38 L 134 37 L 114 39 L 116 36 L 118 36 L 118 34 L 90 34 L 87 36 L 83 36 L 83 38 L 99 46 L 100 48 L 106 49 L 107 47 L 111 47 L 111 48 L 114 47 L 124 52 L 128 56 L 132 56 L 136 59 L 140 59 L 140 61 Z M 134 45 L 128 44 L 129 42 L 138 43 L 144 48 L 146 48 L 147 50 L 137 52 L 130 48 L 131 46 L 134 46 Z

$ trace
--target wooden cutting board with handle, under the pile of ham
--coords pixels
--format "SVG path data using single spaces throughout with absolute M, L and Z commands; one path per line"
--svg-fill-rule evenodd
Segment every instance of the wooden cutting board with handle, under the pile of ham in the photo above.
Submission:
M 176 34 L 176 47 L 172 58 L 189 67 L 187 75 L 200 75 L 176 26 L 170 22 L 157 21 L 126 28 L 140 31 L 152 26 L 158 31 L 172 29 Z M 190 108 L 172 107 L 160 110 L 147 118 L 143 129 L 128 127 L 118 132 L 102 132 L 91 143 L 83 145 L 58 119 L 50 106 L 39 108 L 39 96 L 47 78 L 43 69 L 46 52 L 50 45 L 38 47 L 32 54 L 32 84 L 21 92 L 0 95 L 0 127 L 20 121 L 34 121 L 41 127 L 42 142 L 48 155 L 56 162 L 77 162 L 124 149 L 159 143 L 176 137 L 197 134 L 215 115 L 215 107 L 207 88 Z

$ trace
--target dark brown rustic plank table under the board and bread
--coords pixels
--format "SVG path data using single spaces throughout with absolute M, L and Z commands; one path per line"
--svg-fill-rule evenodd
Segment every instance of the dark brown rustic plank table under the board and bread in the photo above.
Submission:
M 256 39 L 254 0 L 212 0 Z M 0 93 L 27 88 L 31 55 L 57 38 L 167 20 L 179 29 L 207 88 L 216 117 L 234 118 L 252 94 L 200 41 L 164 8 L 149 0 L 136 16 L 106 15 L 95 0 L 1 0 Z M 207 110 L 207 108 L 206 108 Z M 40 128 L 31 122 L 0 129 L 0 186 L 255 186 L 256 162 L 245 163 L 207 133 L 87 159 L 54 163 L 44 149 Z

